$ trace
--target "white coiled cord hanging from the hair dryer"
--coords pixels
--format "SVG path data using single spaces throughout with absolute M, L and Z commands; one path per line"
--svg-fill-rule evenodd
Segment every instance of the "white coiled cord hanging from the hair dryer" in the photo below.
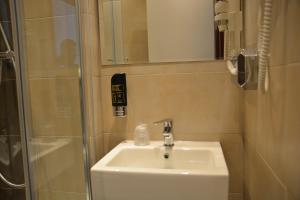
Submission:
M 263 11 L 263 23 L 259 33 L 259 71 L 258 85 L 262 91 L 268 90 L 268 64 L 271 45 L 272 29 L 272 0 L 265 0 Z

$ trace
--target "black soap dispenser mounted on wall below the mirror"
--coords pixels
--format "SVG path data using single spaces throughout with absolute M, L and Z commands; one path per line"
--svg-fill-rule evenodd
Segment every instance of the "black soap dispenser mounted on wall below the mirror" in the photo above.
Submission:
M 112 76 L 111 98 L 113 115 L 115 117 L 125 117 L 127 115 L 127 88 L 125 73 L 118 73 Z

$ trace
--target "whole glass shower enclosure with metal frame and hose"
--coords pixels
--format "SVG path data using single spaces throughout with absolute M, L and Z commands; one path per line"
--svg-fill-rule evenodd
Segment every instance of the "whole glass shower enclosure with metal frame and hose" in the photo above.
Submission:
M 90 199 L 75 0 L 0 1 L 0 199 Z

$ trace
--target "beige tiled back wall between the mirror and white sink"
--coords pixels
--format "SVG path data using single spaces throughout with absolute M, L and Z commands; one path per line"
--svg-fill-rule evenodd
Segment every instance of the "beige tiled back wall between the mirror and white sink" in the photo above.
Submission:
M 117 72 L 127 73 L 126 118 L 112 115 L 110 79 Z M 242 93 L 224 62 L 103 67 L 101 88 L 106 148 L 132 139 L 139 123 L 149 125 L 152 140 L 163 140 L 162 127 L 153 122 L 172 118 L 176 140 L 221 141 L 230 171 L 230 197 L 242 198 Z

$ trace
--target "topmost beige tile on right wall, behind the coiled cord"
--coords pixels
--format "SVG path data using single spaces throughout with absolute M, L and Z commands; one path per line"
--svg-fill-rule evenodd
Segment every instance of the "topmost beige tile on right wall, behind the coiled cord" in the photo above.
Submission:
M 247 48 L 257 48 L 258 29 L 262 15 L 263 1 L 245 1 L 245 42 Z M 299 62 L 299 26 L 297 19 L 300 3 L 297 0 L 276 0 L 273 2 L 273 23 L 270 66 L 282 66 Z

